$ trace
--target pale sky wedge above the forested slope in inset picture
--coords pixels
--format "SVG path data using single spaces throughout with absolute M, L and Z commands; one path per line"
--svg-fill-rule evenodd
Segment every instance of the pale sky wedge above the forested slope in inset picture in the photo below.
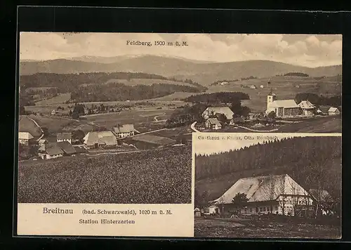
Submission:
M 252 136 L 254 140 L 245 140 L 244 136 Z M 258 143 L 263 143 L 267 139 L 258 139 L 258 133 L 206 133 L 205 136 L 240 136 L 242 140 L 193 140 L 195 154 L 214 154 L 219 152 L 227 152 L 230 150 L 237 150 L 242 147 L 249 147 Z M 265 134 L 265 136 L 277 136 L 278 140 L 282 138 L 292 138 L 293 136 L 287 136 L 282 133 Z

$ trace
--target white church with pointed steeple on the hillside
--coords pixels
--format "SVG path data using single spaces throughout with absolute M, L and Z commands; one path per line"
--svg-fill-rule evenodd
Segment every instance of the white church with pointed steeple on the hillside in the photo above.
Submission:
M 270 91 L 267 96 L 267 110 L 266 114 L 274 112 L 277 117 L 295 117 L 300 112 L 300 107 L 295 100 L 277 100 L 275 93 Z

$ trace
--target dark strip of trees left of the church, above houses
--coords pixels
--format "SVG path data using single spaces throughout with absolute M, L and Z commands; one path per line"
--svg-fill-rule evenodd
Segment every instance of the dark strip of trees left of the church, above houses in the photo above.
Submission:
M 185 98 L 187 103 L 237 103 L 237 100 L 249 100 L 247 93 L 242 92 L 217 92 L 217 93 L 203 93 L 201 95 L 189 96 Z

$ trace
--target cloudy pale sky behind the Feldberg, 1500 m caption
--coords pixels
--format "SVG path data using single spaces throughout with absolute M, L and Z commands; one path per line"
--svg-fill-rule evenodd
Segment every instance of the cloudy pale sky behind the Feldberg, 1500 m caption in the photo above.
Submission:
M 126 41 L 187 41 L 188 46 L 127 46 Z M 20 60 L 167 55 L 231 62 L 274 60 L 307 67 L 341 65 L 341 35 L 21 32 Z

